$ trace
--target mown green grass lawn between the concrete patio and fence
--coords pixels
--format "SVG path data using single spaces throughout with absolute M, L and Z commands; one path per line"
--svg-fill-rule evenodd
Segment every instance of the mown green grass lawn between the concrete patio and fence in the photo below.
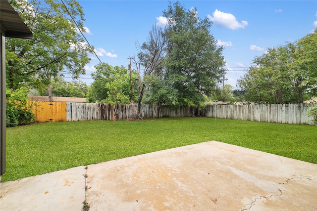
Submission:
M 317 164 L 317 127 L 214 118 L 86 121 L 7 128 L 2 181 L 205 141 Z

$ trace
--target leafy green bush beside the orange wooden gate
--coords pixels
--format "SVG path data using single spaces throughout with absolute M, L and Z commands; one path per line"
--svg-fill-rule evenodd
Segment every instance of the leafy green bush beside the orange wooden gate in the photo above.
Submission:
M 6 127 L 15 127 L 35 122 L 32 104 L 28 105 L 28 88 L 15 91 L 6 89 Z

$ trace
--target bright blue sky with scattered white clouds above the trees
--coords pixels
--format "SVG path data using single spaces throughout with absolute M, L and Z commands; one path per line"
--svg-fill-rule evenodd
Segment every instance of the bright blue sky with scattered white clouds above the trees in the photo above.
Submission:
M 85 37 L 99 58 L 112 66 L 128 68 L 129 56 L 137 54 L 136 42 L 146 41 L 152 25 L 164 20 L 166 0 L 78 0 L 85 14 Z M 173 1 L 172 1 L 173 2 Z M 236 86 L 255 56 L 266 48 L 294 42 L 317 27 L 317 0 L 184 0 L 186 9 L 196 7 L 200 18 L 213 21 L 211 34 L 224 46 L 228 72 L 225 84 Z M 93 82 L 96 56 L 86 66 L 82 81 Z M 134 68 L 135 69 L 135 68 Z

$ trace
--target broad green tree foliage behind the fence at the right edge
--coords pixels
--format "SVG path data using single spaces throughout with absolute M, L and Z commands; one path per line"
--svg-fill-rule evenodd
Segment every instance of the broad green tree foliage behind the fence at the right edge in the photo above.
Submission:
M 317 95 L 317 30 L 294 43 L 268 48 L 237 84 L 247 101 L 302 103 Z

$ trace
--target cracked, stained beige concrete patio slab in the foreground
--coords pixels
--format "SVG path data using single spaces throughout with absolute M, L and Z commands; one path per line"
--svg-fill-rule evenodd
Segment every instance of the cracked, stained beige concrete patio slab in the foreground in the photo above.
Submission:
M 209 141 L 0 183 L 2 211 L 314 211 L 317 165 Z

